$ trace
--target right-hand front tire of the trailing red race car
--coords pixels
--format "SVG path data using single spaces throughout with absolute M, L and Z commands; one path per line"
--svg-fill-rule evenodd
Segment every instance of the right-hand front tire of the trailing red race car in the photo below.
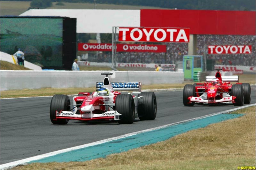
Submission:
M 232 96 L 235 96 L 235 106 L 243 106 L 244 105 L 244 89 L 242 85 L 235 84 L 232 85 L 231 88 Z

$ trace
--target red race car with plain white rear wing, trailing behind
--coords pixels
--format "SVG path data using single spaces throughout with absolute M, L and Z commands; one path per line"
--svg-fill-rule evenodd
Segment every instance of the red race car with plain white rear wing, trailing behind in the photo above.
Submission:
M 249 83 L 238 83 L 238 76 L 221 76 L 220 70 L 215 76 L 206 76 L 206 82 L 185 85 L 183 89 L 184 106 L 195 103 L 230 103 L 243 106 L 251 102 L 251 86 Z M 230 82 L 237 82 L 230 84 Z

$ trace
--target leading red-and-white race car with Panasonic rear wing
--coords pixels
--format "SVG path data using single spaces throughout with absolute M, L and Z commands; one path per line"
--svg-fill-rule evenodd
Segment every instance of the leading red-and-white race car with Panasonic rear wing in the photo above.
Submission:
M 68 120 L 113 120 L 118 123 L 133 123 L 156 118 L 156 95 L 141 92 L 141 82 L 110 82 L 108 75 L 103 82 L 96 83 L 96 92 L 79 92 L 72 104 L 67 95 L 52 97 L 50 119 L 53 124 L 67 124 Z M 117 92 L 116 90 L 139 91 Z

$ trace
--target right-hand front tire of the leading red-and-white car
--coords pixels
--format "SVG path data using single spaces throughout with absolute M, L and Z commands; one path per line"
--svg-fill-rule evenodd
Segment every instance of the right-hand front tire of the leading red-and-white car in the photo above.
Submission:
M 116 111 L 122 115 L 118 120 L 120 124 L 132 124 L 135 119 L 135 105 L 131 94 L 119 94 L 116 96 Z

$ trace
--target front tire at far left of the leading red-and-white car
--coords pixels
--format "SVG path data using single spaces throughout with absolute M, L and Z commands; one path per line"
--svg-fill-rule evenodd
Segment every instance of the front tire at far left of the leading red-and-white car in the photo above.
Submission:
M 50 106 L 50 119 L 53 124 L 67 124 L 68 119 L 56 119 L 56 110 L 58 112 L 62 111 L 70 111 L 70 100 L 67 95 L 63 94 L 55 94 L 51 100 Z

